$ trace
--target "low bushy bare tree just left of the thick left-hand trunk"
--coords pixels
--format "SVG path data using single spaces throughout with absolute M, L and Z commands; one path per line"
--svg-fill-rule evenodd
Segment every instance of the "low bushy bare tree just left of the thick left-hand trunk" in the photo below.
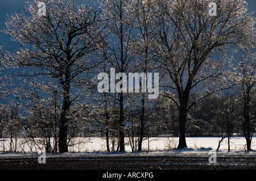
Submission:
M 35 78 L 22 77 L 21 80 L 22 87 L 14 89 L 13 94 L 24 102 L 26 142 L 33 142 L 47 153 L 57 152 L 61 99 Z

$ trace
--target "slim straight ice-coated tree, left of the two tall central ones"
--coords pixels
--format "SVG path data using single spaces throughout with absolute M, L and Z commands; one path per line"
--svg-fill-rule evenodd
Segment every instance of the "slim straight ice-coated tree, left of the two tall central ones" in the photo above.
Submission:
M 133 40 L 134 18 L 130 15 L 131 4 L 130 0 L 104 0 L 99 1 L 102 11 L 101 18 L 105 21 L 106 47 L 104 50 L 104 58 L 108 62 L 109 68 L 114 68 L 116 73 L 129 72 L 130 64 L 134 60 L 131 53 L 131 42 Z M 105 69 L 105 71 L 109 71 Z M 122 82 L 122 75 L 120 82 Z M 119 103 L 119 150 L 125 151 L 125 92 L 122 89 L 116 92 L 115 99 Z

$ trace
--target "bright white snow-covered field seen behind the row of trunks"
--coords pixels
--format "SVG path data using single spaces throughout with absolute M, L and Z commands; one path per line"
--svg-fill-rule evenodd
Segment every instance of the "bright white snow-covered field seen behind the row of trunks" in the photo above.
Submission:
M 200 148 L 210 148 L 213 150 L 217 149 L 218 141 L 220 137 L 187 137 L 187 146 L 191 150 L 197 150 Z M 142 149 L 146 151 L 160 151 L 160 150 L 171 150 L 177 147 L 179 138 L 177 137 L 151 137 L 143 141 Z M 111 142 L 110 142 L 111 143 Z M 37 144 L 37 145 L 36 145 Z M 17 150 L 19 152 L 30 153 L 40 151 L 40 148 L 44 148 L 40 145 L 40 139 L 36 140 L 36 144 L 32 141 L 19 139 L 17 142 Z M 93 151 L 106 151 L 106 139 L 99 137 L 86 137 L 86 138 L 75 138 L 71 142 L 72 146 L 69 146 L 70 152 L 93 152 Z M 242 136 L 234 136 L 230 138 L 230 150 L 231 151 L 245 151 L 245 138 Z M 110 145 L 111 146 L 111 145 Z M 256 150 L 256 136 L 253 137 L 251 143 L 251 149 Z M 0 152 L 6 152 L 10 150 L 10 140 L 0 139 Z M 221 151 L 228 150 L 228 139 L 222 141 L 220 146 Z M 42 150 L 43 151 L 43 150 Z M 125 151 L 131 151 L 129 145 L 129 139 L 126 138 Z

